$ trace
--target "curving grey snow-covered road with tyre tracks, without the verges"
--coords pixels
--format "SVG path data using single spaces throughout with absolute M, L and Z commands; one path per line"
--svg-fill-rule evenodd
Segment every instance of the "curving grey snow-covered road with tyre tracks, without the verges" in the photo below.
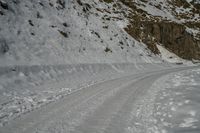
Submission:
M 76 91 L 11 121 L 1 133 L 155 133 L 165 132 L 154 117 L 159 78 L 173 68 L 104 81 Z

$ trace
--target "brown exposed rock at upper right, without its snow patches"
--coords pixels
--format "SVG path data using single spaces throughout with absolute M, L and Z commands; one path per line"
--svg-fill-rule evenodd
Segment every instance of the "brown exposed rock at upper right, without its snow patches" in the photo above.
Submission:
M 175 53 L 181 58 L 192 60 L 200 60 L 200 35 L 194 36 L 186 31 L 186 27 L 200 29 L 199 21 L 192 21 L 190 14 L 195 14 L 200 11 L 199 4 L 194 4 L 194 1 L 177 0 L 172 3 L 172 14 L 178 19 L 186 19 L 182 23 L 165 20 L 164 18 L 149 15 L 145 10 L 138 8 L 138 3 L 134 1 L 122 1 L 123 4 L 130 7 L 131 13 L 128 18 L 130 24 L 125 30 L 138 41 L 144 42 L 147 47 L 155 54 L 159 54 L 157 44 L 162 44 L 169 51 Z M 147 3 L 147 1 L 142 1 Z M 192 5 L 195 5 L 193 8 Z M 174 7 L 183 7 L 185 9 L 191 7 L 190 14 L 178 13 Z M 161 8 L 161 7 L 160 7 Z M 191 20 L 191 21 L 188 21 Z

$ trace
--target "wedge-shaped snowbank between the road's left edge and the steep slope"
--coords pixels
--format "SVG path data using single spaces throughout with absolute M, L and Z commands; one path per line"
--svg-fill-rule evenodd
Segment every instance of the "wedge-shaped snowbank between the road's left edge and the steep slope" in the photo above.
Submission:
M 89 85 L 170 64 L 77 64 L 1 67 L 0 123 Z

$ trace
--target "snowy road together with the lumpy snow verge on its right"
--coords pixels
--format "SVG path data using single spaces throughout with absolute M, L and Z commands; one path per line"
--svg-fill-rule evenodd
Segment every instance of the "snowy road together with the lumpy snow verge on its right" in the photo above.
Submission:
M 22 115 L 1 133 L 200 132 L 198 67 L 104 81 Z

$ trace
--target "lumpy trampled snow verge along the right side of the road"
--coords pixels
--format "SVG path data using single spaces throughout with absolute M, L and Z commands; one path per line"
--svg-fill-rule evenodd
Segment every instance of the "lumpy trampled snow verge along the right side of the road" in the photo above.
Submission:
M 154 117 L 164 133 L 200 132 L 200 69 L 159 79 Z

